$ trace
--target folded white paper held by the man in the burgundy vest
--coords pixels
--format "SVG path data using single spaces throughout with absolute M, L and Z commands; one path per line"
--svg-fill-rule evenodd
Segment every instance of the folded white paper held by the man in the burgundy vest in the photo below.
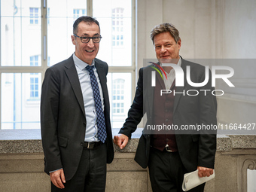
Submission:
M 203 177 L 200 178 L 198 176 L 198 169 L 194 172 L 188 172 L 184 174 L 184 180 L 182 183 L 182 190 L 187 191 L 194 187 L 197 187 L 200 184 L 203 184 L 206 181 L 211 180 L 212 178 L 215 178 L 215 171 L 213 170 L 213 174 L 209 177 Z

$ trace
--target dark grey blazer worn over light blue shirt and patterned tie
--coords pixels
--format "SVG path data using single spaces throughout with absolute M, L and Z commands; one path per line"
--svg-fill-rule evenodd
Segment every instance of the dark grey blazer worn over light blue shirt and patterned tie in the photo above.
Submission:
M 95 59 L 105 103 L 107 163 L 114 158 L 106 75 L 108 65 Z M 41 138 L 44 172 L 63 168 L 69 181 L 78 169 L 87 120 L 73 56 L 47 69 L 41 91 Z

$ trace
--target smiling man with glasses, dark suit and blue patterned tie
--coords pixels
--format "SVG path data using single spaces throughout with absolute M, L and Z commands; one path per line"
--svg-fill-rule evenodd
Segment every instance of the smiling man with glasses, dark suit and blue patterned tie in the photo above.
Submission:
M 44 171 L 52 191 L 105 191 L 106 163 L 114 158 L 108 65 L 96 55 L 99 22 L 79 17 L 73 25 L 75 53 L 45 72 L 41 93 Z

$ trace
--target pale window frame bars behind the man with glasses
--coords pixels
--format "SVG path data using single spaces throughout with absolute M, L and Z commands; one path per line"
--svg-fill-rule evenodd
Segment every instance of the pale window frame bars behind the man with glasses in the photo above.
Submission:
M 50 0 L 49 0 L 50 1 Z M 85 0 L 86 1 L 86 0 Z M 136 0 L 132 1 L 132 65 L 131 66 L 109 66 L 108 73 L 131 73 L 131 98 L 136 90 Z M 1 6 L 1 5 L 0 5 Z M 30 7 L 29 7 L 30 8 Z M 49 10 L 50 11 L 50 10 Z M 40 14 L 40 8 L 38 10 Z M 93 17 L 93 0 L 87 0 L 87 15 Z M 41 0 L 41 16 L 38 16 L 38 26 L 41 23 L 41 66 L 1 66 L 0 65 L 0 93 L 2 90 L 2 74 L 5 73 L 38 73 L 41 74 L 41 84 L 44 80 L 44 74 L 48 66 L 47 56 L 47 25 L 48 25 L 48 8 L 47 0 Z M 35 25 L 35 23 L 31 24 Z M 0 26 L 0 35 L 1 35 Z M 2 42 L 0 38 L 0 50 L 2 49 Z M 2 57 L 0 51 L 0 58 Z M 1 59 L 0 59 L 1 61 Z M 1 63 L 2 64 L 2 63 Z M 39 84 L 39 86 L 41 86 Z M 39 96 L 40 98 L 40 96 Z M 0 102 L 2 102 L 2 94 L 0 94 Z M 131 101 L 132 102 L 132 101 Z M 0 130 L 2 130 L 2 111 L 0 108 Z

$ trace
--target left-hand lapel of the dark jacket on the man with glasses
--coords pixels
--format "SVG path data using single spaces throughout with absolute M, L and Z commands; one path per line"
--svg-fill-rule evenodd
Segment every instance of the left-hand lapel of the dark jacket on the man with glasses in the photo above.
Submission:
M 75 93 L 76 98 L 78 99 L 78 103 L 81 107 L 81 110 L 84 113 L 84 117 L 85 117 L 85 111 L 84 111 L 84 99 L 83 99 L 83 95 L 81 92 L 81 85 L 80 85 L 80 81 L 78 78 L 78 72 L 75 69 L 75 63 L 73 60 L 73 56 L 69 57 L 69 59 L 67 59 L 66 61 L 66 65 L 65 65 L 66 69 L 66 75 L 69 78 L 69 82 L 72 86 L 72 89 Z

